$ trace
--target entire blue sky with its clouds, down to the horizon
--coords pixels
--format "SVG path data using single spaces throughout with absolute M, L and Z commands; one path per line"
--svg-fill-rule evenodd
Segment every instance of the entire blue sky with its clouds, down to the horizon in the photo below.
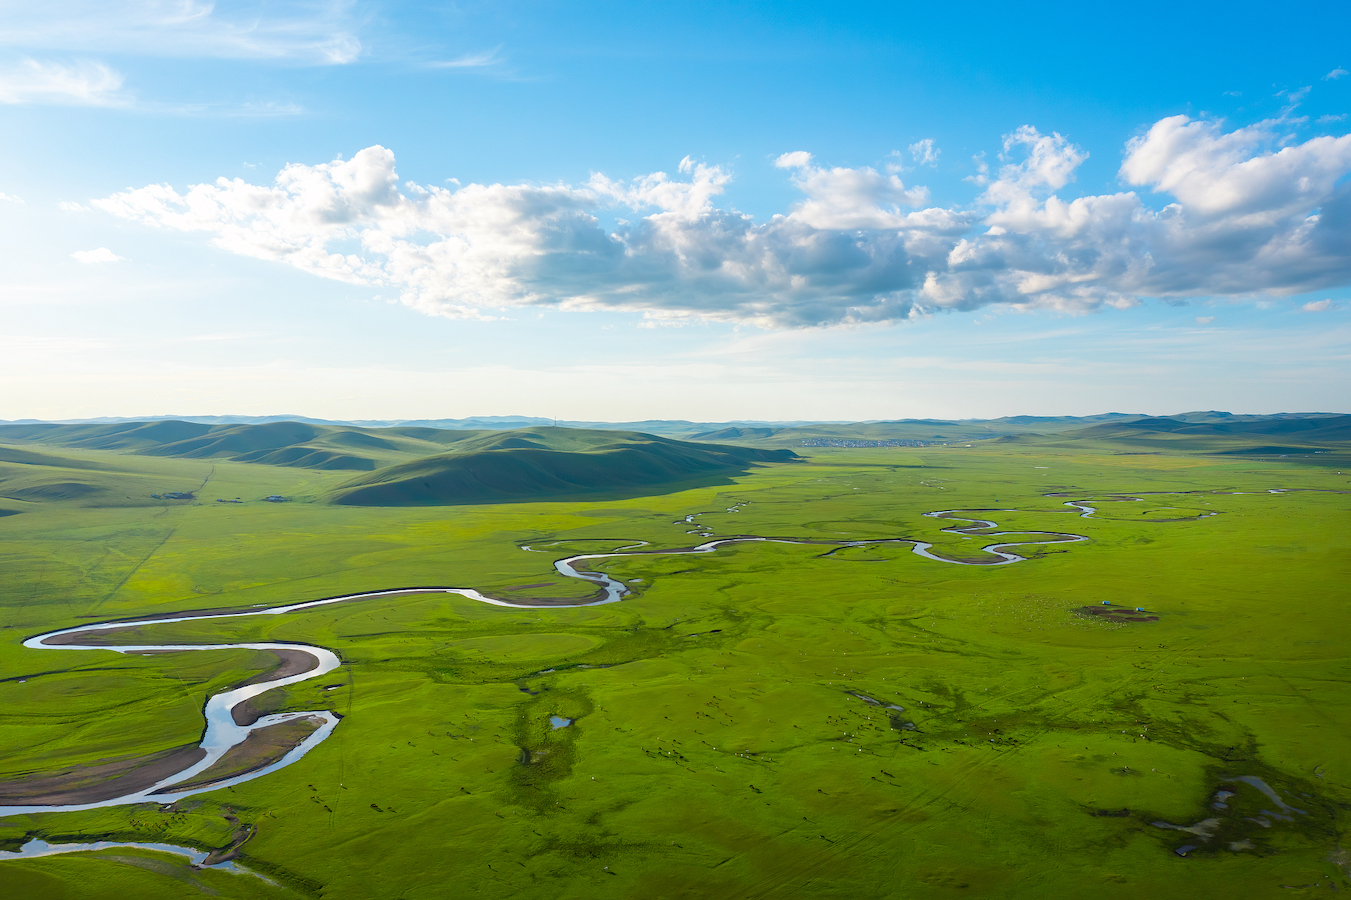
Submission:
M 1351 412 L 1347 34 L 0 0 L 0 419 Z

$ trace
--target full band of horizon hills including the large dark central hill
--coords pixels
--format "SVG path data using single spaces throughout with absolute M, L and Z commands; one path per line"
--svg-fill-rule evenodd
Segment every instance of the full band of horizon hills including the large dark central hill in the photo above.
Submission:
M 1290 457 L 1346 468 L 1351 464 L 1351 415 L 1200 411 L 1173 416 L 743 423 L 680 438 L 555 426 L 501 430 L 176 419 L 9 423 L 0 424 L 0 515 L 15 515 L 31 503 L 193 501 L 193 484 L 138 473 L 118 454 L 332 470 L 315 481 L 317 493 L 308 496 L 340 505 L 453 505 L 613 499 L 682 489 L 680 485 L 731 484 L 734 476 L 754 466 L 797 459 L 794 450 L 817 455 L 931 445 L 965 449 L 989 441 L 1025 445 L 1034 451 L 1063 447 L 1109 454 Z M 177 496 L 185 491 L 189 493 Z

